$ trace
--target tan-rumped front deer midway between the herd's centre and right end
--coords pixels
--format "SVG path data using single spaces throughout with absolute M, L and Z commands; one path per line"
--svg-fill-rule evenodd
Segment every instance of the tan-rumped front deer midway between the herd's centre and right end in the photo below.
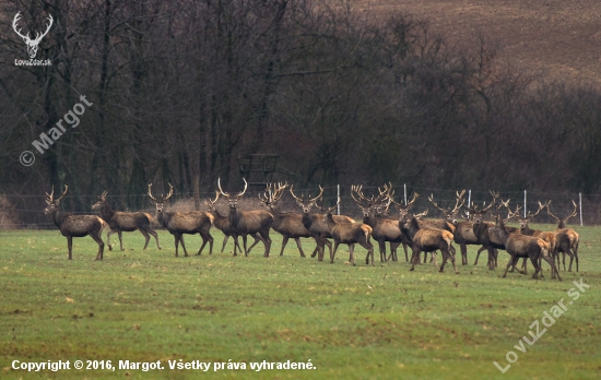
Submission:
M 425 213 L 427 213 L 427 210 Z M 410 213 L 399 218 L 399 227 L 411 239 L 412 254 L 410 271 L 415 269 L 415 264 L 420 261 L 421 252 L 432 252 L 432 260 L 439 272 L 445 270 L 447 260 L 450 260 L 455 273 L 459 273 L 455 265 L 455 258 L 451 254 L 452 234 L 450 231 L 446 229 L 424 228 L 420 224 L 417 215 Z M 434 254 L 437 250 L 443 252 L 443 265 L 440 268 L 438 268 L 436 256 Z

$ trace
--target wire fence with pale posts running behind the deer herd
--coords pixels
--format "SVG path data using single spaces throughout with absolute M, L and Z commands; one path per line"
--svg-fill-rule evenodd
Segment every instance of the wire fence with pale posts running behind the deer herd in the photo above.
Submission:
M 452 209 L 456 203 L 456 190 L 445 189 L 428 189 L 428 188 L 408 188 L 404 185 L 393 186 L 393 198 L 397 202 L 405 202 L 411 200 L 414 193 L 417 193 L 413 209 L 415 212 L 422 212 L 426 209 L 429 210 L 428 217 L 436 217 L 440 213 L 428 201 L 432 194 L 435 202 L 443 207 Z M 244 195 L 241 206 L 243 210 L 256 210 L 260 207 L 258 194 L 263 190 L 249 189 Z M 366 197 L 372 197 L 378 193 L 378 187 L 363 187 L 363 193 Z M 310 197 L 317 197 L 319 193 L 318 188 L 311 189 L 294 189 L 296 197 L 307 194 Z M 122 206 L 127 204 L 127 199 L 132 197 L 140 197 L 145 199 L 145 204 L 138 209 L 130 209 Z M 178 193 L 174 192 L 166 211 L 207 211 L 208 207 L 204 201 L 212 198 L 214 199 L 215 192 L 204 191 L 200 193 L 200 202 L 195 200 L 193 193 Z M 520 205 L 522 210 L 520 214 L 534 213 L 539 209 L 538 202 L 546 202 L 551 200 L 551 210 L 553 214 L 559 217 L 570 215 L 575 211 L 577 215 L 569 219 L 568 224 L 571 225 L 599 225 L 601 224 L 601 194 L 579 194 L 579 193 L 549 193 L 549 192 L 530 192 L 530 191 L 508 191 L 500 192 L 503 200 L 510 200 L 512 207 Z M 92 211 L 92 205 L 99 199 L 98 194 L 66 194 L 61 201 L 61 209 L 64 212 L 72 214 L 97 214 Z M 357 207 L 351 197 L 350 186 L 333 186 L 323 188 L 323 206 L 333 206 L 340 199 L 338 213 L 349 215 L 356 221 L 361 221 L 361 210 Z M 46 207 L 46 195 L 20 195 L 20 194 L 0 194 L 0 229 L 48 229 L 56 228 L 50 217 L 44 214 Z M 479 205 L 488 204 L 492 200 L 492 195 L 487 190 L 469 190 L 466 192 L 466 201 L 470 203 L 476 203 Z M 76 201 L 76 202 L 75 202 Z M 108 194 L 107 201 L 115 211 L 143 211 L 151 215 L 155 214 L 154 205 L 150 202 L 148 194 Z M 73 211 L 73 204 L 80 204 L 80 211 Z M 227 213 L 227 202 L 222 197 L 216 203 L 217 210 L 222 214 Z M 281 211 L 296 211 L 300 212 L 300 207 L 296 205 L 293 197 L 290 192 L 286 192 L 284 197 L 279 201 L 279 207 Z M 396 211 L 391 207 L 390 216 L 393 218 Z M 546 211 L 541 212 L 535 219 L 535 223 L 555 223 Z

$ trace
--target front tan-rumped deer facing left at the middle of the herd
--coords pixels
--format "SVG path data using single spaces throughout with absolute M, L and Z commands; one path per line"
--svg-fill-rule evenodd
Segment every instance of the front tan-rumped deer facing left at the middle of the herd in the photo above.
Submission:
M 330 263 L 334 262 L 335 251 L 338 246 L 343 244 L 349 246 L 349 262 L 351 265 L 355 265 L 354 249 L 355 244 L 358 244 L 363 248 L 367 249 L 367 257 L 365 263 L 369 264 L 369 257 L 372 257 L 372 265 L 374 263 L 374 246 L 372 245 L 372 227 L 366 224 L 360 223 L 337 223 L 333 218 L 332 212 L 338 207 L 338 203 L 330 209 L 327 209 L 323 214 L 323 222 L 328 225 L 330 235 L 334 240 L 334 249 L 330 254 Z

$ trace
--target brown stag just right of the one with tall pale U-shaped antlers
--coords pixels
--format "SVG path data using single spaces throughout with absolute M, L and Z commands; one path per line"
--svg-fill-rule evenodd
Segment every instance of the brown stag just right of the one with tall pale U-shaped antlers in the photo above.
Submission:
M 305 252 L 303 252 L 300 238 L 311 237 L 311 234 L 305 227 L 305 225 L 303 225 L 303 214 L 294 212 L 281 212 L 275 207 L 275 203 L 282 198 L 287 187 L 287 183 L 278 183 L 278 188 L 275 188 L 275 185 L 268 183 L 266 191 L 262 194 L 259 193 L 259 201 L 273 215 L 273 224 L 271 225 L 271 228 L 283 236 L 280 256 L 284 254 L 284 248 L 286 247 L 288 239 L 292 238 L 296 242 L 296 247 L 298 247 L 300 257 L 304 258 Z

